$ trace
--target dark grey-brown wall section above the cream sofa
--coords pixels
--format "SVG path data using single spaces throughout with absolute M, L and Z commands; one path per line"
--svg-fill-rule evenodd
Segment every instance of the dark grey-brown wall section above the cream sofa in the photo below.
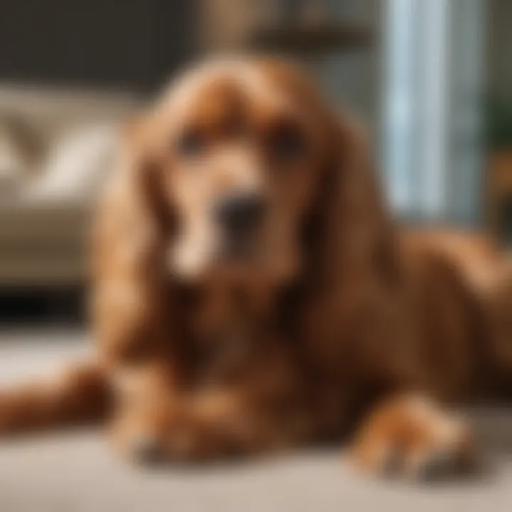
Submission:
M 0 79 L 152 88 L 191 55 L 194 4 L 2 0 Z

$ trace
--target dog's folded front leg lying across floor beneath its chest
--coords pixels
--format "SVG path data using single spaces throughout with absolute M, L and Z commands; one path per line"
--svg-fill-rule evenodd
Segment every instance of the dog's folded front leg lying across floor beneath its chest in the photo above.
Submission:
M 119 400 L 114 447 L 133 462 L 199 462 L 284 449 L 306 438 L 304 415 L 279 414 L 243 388 L 176 393 L 155 373 L 132 375 Z

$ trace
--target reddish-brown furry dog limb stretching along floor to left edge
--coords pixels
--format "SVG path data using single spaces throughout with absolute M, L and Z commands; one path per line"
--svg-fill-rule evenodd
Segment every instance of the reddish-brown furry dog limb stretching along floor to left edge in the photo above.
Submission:
M 98 422 L 110 401 L 105 371 L 75 363 L 52 378 L 1 389 L 0 434 Z

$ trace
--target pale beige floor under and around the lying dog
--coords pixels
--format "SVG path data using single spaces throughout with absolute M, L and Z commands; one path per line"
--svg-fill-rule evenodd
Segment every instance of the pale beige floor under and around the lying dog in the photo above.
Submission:
M 0 332 L 0 381 L 46 373 L 87 352 L 86 338 L 63 329 Z M 471 415 L 489 454 L 488 474 L 437 486 L 366 479 L 332 451 L 239 466 L 143 471 L 116 459 L 101 432 L 5 440 L 0 511 L 511 511 L 512 410 Z

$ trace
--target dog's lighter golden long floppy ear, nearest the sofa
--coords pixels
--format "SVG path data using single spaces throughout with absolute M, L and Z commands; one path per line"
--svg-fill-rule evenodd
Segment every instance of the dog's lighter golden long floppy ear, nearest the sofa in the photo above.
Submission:
M 163 247 L 171 211 L 148 129 L 146 119 L 138 119 L 124 132 L 93 228 L 92 315 L 100 353 L 109 361 L 139 359 L 165 334 Z

